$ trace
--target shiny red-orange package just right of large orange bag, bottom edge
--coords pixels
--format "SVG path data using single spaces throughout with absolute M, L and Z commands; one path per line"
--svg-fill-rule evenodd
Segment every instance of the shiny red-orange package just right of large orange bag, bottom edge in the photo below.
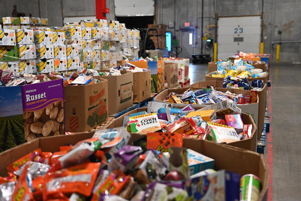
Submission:
M 120 170 L 114 170 L 93 194 L 91 201 L 98 200 L 100 193 L 119 194 L 130 182 L 130 178 Z

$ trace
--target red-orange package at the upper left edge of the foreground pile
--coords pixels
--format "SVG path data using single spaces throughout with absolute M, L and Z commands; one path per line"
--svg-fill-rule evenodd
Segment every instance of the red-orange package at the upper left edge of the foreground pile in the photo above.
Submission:
M 12 164 L 10 164 L 8 166 L 8 170 L 11 172 L 15 172 L 16 170 L 20 169 L 20 167 L 22 165 L 24 165 L 27 161 L 43 163 L 44 160 L 45 160 L 45 158 L 44 158 L 44 155 L 43 155 L 41 149 L 37 149 L 37 150 L 23 156 L 22 158 L 19 158 Z

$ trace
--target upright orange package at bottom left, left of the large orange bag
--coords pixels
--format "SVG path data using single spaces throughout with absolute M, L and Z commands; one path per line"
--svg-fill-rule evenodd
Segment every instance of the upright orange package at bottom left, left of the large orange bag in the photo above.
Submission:
M 16 183 L 16 187 L 12 195 L 12 201 L 34 200 L 31 188 L 29 186 L 32 182 L 31 176 L 29 176 L 28 173 L 29 167 L 30 164 L 26 164 L 24 167 L 24 170 Z

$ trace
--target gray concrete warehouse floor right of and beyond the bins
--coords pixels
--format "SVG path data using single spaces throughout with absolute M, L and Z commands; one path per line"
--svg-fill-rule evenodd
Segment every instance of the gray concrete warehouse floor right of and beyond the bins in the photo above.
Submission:
M 207 64 L 191 65 L 191 83 L 205 80 Z M 301 65 L 271 65 L 267 108 L 271 129 L 265 156 L 270 169 L 268 200 L 300 200 Z

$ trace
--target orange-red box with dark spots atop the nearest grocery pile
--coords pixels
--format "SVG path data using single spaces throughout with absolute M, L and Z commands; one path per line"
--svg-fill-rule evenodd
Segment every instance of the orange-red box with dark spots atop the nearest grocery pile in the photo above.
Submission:
M 146 147 L 167 152 L 170 147 L 183 147 L 183 137 L 179 133 L 147 133 Z

